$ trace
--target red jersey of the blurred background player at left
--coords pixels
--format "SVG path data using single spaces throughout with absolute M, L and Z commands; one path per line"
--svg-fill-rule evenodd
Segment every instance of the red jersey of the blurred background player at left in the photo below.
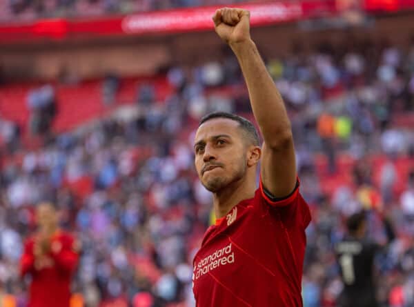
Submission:
M 69 307 L 70 281 L 77 266 L 79 246 L 72 235 L 57 232 L 50 242 L 48 266 L 40 270 L 34 266 L 34 238 L 26 241 L 21 257 L 21 276 L 30 274 L 28 307 Z

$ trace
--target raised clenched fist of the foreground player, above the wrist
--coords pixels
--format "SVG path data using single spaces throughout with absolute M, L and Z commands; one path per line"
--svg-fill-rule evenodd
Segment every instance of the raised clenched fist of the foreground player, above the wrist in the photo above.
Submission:
M 250 12 L 241 8 L 220 8 L 213 21 L 215 31 L 228 44 L 242 43 L 250 39 Z

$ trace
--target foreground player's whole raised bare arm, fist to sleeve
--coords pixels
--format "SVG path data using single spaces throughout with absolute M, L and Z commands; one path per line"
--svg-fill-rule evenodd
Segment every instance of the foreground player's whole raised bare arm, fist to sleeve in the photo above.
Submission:
M 215 31 L 228 43 L 246 80 L 255 119 L 264 137 L 262 183 L 274 197 L 286 197 L 296 186 L 295 148 L 282 97 L 255 43 L 250 39 L 250 13 L 221 8 L 213 17 Z

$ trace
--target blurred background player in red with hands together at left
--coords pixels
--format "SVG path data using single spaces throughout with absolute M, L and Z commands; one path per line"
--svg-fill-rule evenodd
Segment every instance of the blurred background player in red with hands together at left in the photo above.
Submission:
M 39 204 L 36 218 L 38 230 L 26 240 L 20 261 L 21 277 L 32 277 L 28 307 L 68 307 L 80 246 L 72 235 L 59 229 L 52 204 Z

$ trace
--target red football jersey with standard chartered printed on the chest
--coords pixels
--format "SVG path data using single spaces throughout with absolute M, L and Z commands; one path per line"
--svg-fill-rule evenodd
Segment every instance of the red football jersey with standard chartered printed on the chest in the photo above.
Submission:
M 262 188 L 210 226 L 195 255 L 197 307 L 287 307 L 302 304 L 305 229 L 311 221 L 299 182 L 286 199 Z

